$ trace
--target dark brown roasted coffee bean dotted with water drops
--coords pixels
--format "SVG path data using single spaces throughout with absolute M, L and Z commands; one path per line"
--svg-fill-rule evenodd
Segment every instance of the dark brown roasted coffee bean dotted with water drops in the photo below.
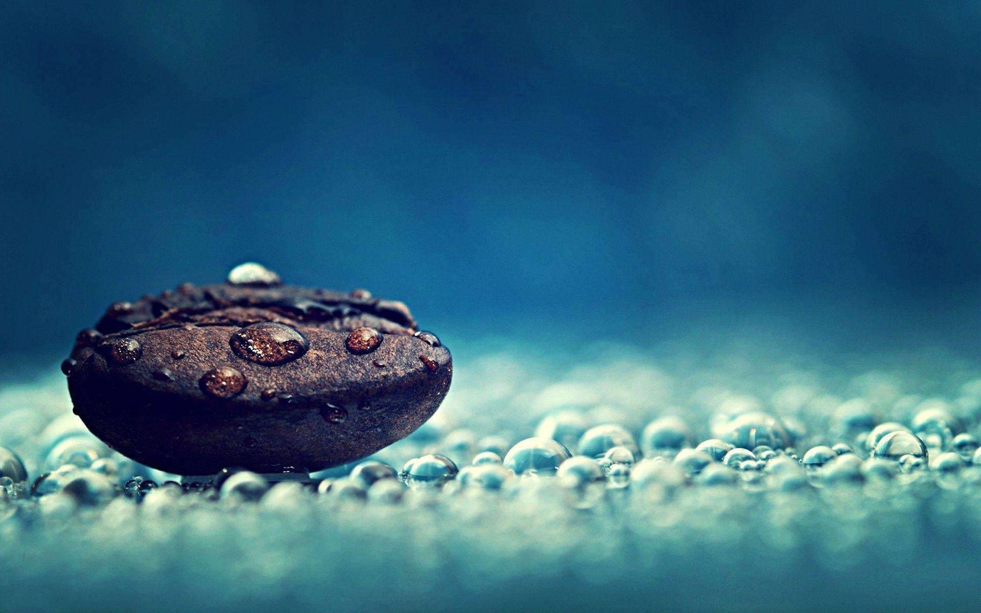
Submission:
M 401 302 L 284 285 L 259 265 L 114 303 L 64 370 L 93 434 L 170 473 L 317 471 L 419 428 L 449 351 Z

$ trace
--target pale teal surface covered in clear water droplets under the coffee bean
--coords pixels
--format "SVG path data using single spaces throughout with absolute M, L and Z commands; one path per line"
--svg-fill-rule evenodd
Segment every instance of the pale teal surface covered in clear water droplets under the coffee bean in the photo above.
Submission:
M 296 338 L 273 332 L 242 334 L 240 350 L 287 355 L 277 343 Z M 413 360 L 433 347 L 407 340 Z M 265 366 L 224 343 L 245 360 L 235 366 Z M 373 365 L 381 347 L 365 367 L 384 372 Z M 787 366 L 801 363 L 788 352 L 624 349 L 577 362 L 529 347 L 472 351 L 430 422 L 309 482 L 229 467 L 211 484 L 181 485 L 87 434 L 66 410 L 64 382 L 3 383 L 7 580 L 49 586 L 52 598 L 85 586 L 103 608 L 119 602 L 119 586 L 167 598 L 180 585 L 181 597 L 241 610 L 276 608 L 284 594 L 303 609 L 329 598 L 340 611 L 391 601 L 469 610 L 501 593 L 529 605 L 544 593 L 547 607 L 569 610 L 597 596 L 640 610 L 770 610 L 853 593 L 874 569 L 865 588 L 884 605 L 903 594 L 932 610 L 938 589 L 937 602 L 973 601 L 981 364 L 828 356 L 802 369 Z M 237 390 L 273 411 L 289 393 L 225 368 L 201 383 L 216 406 Z M 311 420 L 342 430 L 379 414 L 366 400 Z M 434 600 L 458 585 L 462 600 Z M 36 606 L 44 594 L 27 591 L 11 590 L 7 604 Z M 748 600 L 774 593 L 789 595 Z

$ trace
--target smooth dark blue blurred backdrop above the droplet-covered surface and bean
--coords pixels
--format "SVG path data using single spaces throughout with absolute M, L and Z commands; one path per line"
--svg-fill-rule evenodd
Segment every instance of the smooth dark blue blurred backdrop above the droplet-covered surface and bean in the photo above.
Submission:
M 900 310 L 976 338 L 974 3 L 4 13 L 8 356 L 246 260 L 450 336 L 800 312 L 904 337 Z

